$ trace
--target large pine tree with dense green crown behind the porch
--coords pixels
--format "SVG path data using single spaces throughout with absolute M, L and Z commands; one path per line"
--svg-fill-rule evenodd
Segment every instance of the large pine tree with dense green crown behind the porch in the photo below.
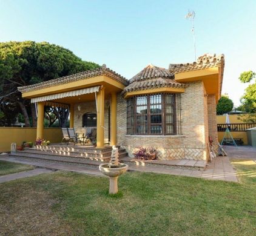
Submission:
M 25 125 L 30 126 L 29 117 L 32 117 L 32 126 L 35 126 L 35 106 L 32 106 L 29 100 L 22 99 L 17 87 L 98 67 L 98 64 L 82 61 L 72 51 L 48 42 L 2 42 L 0 43 L 0 103 L 16 103 L 24 115 Z M 64 116 L 66 118 L 64 120 L 67 120 L 68 111 Z

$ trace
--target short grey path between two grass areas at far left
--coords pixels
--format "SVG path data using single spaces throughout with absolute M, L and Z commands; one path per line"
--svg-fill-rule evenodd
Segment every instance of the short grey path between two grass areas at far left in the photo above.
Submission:
M 16 180 L 16 179 L 22 179 L 25 177 L 35 176 L 39 174 L 47 174 L 53 172 L 50 169 L 42 169 L 42 168 L 36 168 L 32 169 L 31 171 L 22 171 L 15 174 L 7 174 L 0 176 L 0 183 Z

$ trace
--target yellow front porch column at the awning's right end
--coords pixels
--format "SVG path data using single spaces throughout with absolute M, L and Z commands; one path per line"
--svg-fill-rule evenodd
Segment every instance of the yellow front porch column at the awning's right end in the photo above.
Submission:
M 97 148 L 104 147 L 104 97 L 105 97 L 105 88 L 97 93 Z

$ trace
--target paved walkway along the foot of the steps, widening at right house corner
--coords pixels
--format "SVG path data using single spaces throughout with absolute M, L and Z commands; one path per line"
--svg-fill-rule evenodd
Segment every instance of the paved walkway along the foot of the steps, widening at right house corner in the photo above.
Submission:
M 74 171 L 81 172 L 84 174 L 93 174 L 93 175 L 101 175 L 98 169 L 90 169 L 86 168 L 83 165 L 70 165 L 67 163 L 53 163 L 45 160 L 26 160 L 22 157 L 0 157 L 0 160 L 8 160 L 9 162 L 19 162 L 24 164 L 29 164 L 33 166 L 40 166 L 43 168 L 49 169 L 60 169 L 64 171 Z M 198 171 L 198 170 L 188 170 L 188 169 L 172 169 L 165 168 L 163 166 L 136 166 L 129 165 L 129 171 L 140 171 L 140 172 L 153 172 L 158 174 L 172 174 L 172 175 L 183 175 L 189 177 L 198 177 L 204 179 L 212 179 L 212 180 L 225 180 L 237 182 L 237 177 L 235 174 L 235 170 L 233 169 L 229 159 L 227 157 L 217 157 L 207 166 L 206 170 Z

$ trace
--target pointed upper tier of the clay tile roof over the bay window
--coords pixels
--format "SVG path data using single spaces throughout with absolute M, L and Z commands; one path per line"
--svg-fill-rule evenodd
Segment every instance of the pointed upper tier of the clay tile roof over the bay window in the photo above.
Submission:
M 142 71 L 140 71 L 140 73 L 133 76 L 132 79 L 130 79 L 130 83 L 159 77 L 174 78 L 173 74 L 169 70 L 149 64 Z

